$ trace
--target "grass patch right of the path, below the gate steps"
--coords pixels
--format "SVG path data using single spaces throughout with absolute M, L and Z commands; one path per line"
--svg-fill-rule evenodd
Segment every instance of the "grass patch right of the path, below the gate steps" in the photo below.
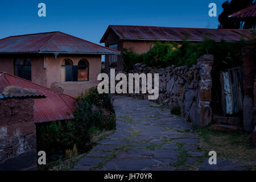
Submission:
M 197 129 L 199 147 L 207 154 L 216 151 L 217 156 L 240 164 L 249 170 L 256 170 L 256 148 L 250 144 L 250 134 L 241 131 L 217 131 L 210 126 Z

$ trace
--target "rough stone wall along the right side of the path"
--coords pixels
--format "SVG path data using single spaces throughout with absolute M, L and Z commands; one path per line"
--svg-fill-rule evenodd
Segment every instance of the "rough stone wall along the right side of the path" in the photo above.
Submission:
M 212 55 L 203 55 L 197 64 L 187 66 L 153 69 L 143 64 L 135 64 L 129 73 L 159 73 L 159 97 L 152 100 L 166 104 L 170 109 L 180 107 L 181 114 L 198 127 L 206 126 L 212 120 L 210 107 L 213 64 Z M 127 73 L 126 73 L 127 74 Z M 147 98 L 146 94 L 125 94 Z

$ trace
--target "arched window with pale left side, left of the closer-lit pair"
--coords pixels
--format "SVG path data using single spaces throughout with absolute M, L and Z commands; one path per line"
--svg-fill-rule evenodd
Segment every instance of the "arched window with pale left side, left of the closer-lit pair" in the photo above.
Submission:
M 61 81 L 73 81 L 73 62 L 64 59 L 61 63 Z

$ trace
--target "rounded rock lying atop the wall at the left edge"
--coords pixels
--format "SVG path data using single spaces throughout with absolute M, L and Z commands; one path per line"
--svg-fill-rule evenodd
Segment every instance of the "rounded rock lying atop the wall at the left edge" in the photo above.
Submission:
M 35 89 L 28 89 L 20 86 L 7 86 L 5 90 L 3 90 L 3 96 L 32 96 L 35 93 Z

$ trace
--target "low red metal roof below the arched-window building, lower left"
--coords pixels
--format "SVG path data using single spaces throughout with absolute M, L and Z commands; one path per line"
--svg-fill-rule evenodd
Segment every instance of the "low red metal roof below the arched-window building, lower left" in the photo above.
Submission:
M 72 111 L 76 109 L 75 98 L 56 92 L 55 90 L 35 84 L 23 78 L 11 75 L 10 73 L 0 73 L 0 92 L 6 86 L 20 86 L 23 88 L 36 89 L 36 94 L 44 95 L 46 98 L 35 99 L 34 122 L 48 122 L 74 118 Z

